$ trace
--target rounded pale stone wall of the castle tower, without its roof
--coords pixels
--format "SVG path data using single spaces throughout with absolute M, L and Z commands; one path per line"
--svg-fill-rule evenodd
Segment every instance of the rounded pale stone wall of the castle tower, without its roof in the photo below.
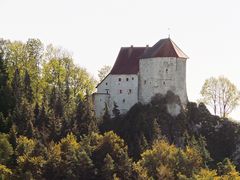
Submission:
M 166 94 L 168 90 L 179 95 L 183 104 L 187 103 L 186 59 L 174 57 L 140 59 L 139 101 L 148 103 L 155 94 Z

